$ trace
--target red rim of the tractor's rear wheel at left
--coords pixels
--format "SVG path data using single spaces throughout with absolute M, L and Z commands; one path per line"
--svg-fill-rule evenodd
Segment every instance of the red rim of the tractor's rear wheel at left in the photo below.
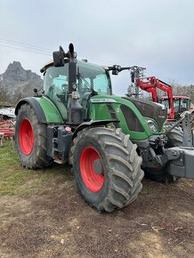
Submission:
M 20 123 L 20 149 L 25 155 L 29 155 L 33 147 L 34 130 L 28 118 L 24 118 Z

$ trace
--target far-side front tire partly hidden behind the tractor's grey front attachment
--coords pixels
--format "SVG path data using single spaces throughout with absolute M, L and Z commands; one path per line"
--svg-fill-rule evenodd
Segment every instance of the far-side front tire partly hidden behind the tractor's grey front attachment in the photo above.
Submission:
M 168 142 L 166 144 L 166 148 L 172 147 L 181 147 L 183 141 L 183 133 L 182 128 L 174 127 L 174 129 L 168 134 Z M 179 177 L 171 175 L 166 172 L 166 168 L 162 169 L 154 169 L 154 168 L 146 168 L 145 176 L 153 181 L 161 181 L 161 182 L 173 182 L 177 181 Z

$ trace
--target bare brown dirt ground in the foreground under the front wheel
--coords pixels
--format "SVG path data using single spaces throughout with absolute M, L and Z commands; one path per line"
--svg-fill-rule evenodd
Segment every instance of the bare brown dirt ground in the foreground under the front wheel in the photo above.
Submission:
M 143 179 L 132 205 L 99 214 L 67 170 L 37 192 L 0 196 L 1 258 L 194 257 L 194 181 Z

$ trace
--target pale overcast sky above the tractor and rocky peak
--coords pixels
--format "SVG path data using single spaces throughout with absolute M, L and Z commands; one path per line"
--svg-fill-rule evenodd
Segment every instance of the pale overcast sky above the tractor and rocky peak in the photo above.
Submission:
M 40 75 L 52 51 L 70 42 L 80 58 L 194 85 L 193 0 L 0 0 L 0 74 L 19 60 Z M 114 93 L 126 93 L 129 81 L 126 71 L 114 78 Z

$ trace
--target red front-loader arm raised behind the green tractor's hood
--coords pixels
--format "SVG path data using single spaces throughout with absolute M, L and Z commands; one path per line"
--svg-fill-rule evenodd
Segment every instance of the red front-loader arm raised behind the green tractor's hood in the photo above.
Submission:
M 157 89 L 166 92 L 166 100 L 168 101 L 168 119 L 174 119 L 174 97 L 173 88 L 171 85 L 167 85 L 163 81 L 157 79 L 156 77 L 141 77 L 136 78 L 136 85 L 141 88 L 141 90 L 151 93 L 152 100 L 154 102 L 159 102 Z

